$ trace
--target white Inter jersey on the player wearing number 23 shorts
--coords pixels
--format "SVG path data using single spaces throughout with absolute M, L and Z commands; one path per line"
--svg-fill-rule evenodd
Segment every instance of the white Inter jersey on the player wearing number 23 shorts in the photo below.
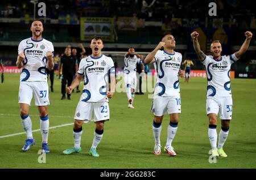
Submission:
M 84 75 L 84 88 L 80 100 L 85 102 L 108 101 L 109 75 L 115 73 L 112 58 L 101 55 L 93 58 L 92 55 L 81 59 L 77 74 Z

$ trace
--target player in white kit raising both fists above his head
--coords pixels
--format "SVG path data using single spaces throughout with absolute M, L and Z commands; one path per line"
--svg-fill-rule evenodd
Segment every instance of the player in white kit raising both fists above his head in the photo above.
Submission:
M 199 33 L 191 33 L 193 46 L 200 61 L 207 71 L 207 102 L 206 110 L 209 118 L 208 136 L 212 147 L 213 157 L 227 157 L 223 150 L 224 143 L 228 138 L 229 124 L 232 119 L 232 93 L 230 87 L 230 67 L 244 54 L 250 44 L 253 33 L 245 32 L 245 42 L 240 50 L 231 55 L 221 55 L 222 48 L 220 41 L 213 41 L 210 45 L 210 53 L 205 55 L 200 49 L 198 37 Z M 218 136 L 217 146 L 217 115 L 220 113 L 221 130 Z

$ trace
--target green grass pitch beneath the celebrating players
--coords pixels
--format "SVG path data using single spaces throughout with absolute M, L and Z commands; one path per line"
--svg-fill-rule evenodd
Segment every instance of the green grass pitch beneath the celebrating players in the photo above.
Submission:
M 110 121 L 105 123 L 104 136 L 98 146 L 100 157 L 88 155 L 95 130 L 94 123 L 90 122 L 83 125 L 82 152 L 76 155 L 62 154 L 64 149 L 73 146 L 72 125 L 49 130 L 51 153 L 46 155 L 46 163 L 42 164 L 38 162 L 42 140 L 40 131 L 33 133 L 36 144 L 25 153 L 21 150 L 25 134 L 0 138 L 0 168 L 256 168 L 256 80 L 232 79 L 233 119 L 224 146 L 228 157 L 218 158 L 213 164 L 208 162 L 210 143 L 205 115 L 206 86 L 207 80 L 203 78 L 191 78 L 189 83 L 180 79 L 182 112 L 172 143 L 176 157 L 166 153 L 159 156 L 152 154 L 152 100 L 147 95 L 135 95 L 135 109 L 128 109 L 126 93 L 115 93 L 109 102 Z M 23 132 L 18 90 L 19 75 L 6 73 L 5 82 L 0 84 L 0 136 Z M 71 101 L 60 100 L 60 80 L 55 78 L 54 92 L 50 93 L 51 105 L 48 106 L 50 127 L 73 123 L 79 97 L 79 93 L 73 93 Z M 39 115 L 34 99 L 30 116 L 32 130 L 38 129 Z M 160 138 L 162 146 L 166 143 L 168 124 L 166 114 Z

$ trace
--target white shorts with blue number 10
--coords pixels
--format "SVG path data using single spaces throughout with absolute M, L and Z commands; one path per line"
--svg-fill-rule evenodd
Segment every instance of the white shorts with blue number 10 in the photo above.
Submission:
M 165 113 L 181 113 L 180 96 L 156 96 L 153 100 L 151 113 L 162 116 Z

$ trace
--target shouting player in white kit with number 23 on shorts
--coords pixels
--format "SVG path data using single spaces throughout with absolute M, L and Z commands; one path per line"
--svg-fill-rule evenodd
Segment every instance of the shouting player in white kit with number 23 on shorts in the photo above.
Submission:
M 96 148 L 103 136 L 104 122 L 109 120 L 109 100 L 115 91 L 115 67 L 112 58 L 101 53 L 104 47 L 101 37 L 94 36 L 90 48 L 92 55 L 81 59 L 79 70 L 72 84 L 67 87 L 67 93 L 80 84 L 82 77 L 85 76 L 84 88 L 80 101 L 77 104 L 75 112 L 75 122 L 73 128 L 74 147 L 63 151 L 65 155 L 81 152 L 82 123 L 92 120 L 94 113 L 94 122 L 96 129 L 94 139 L 89 155 L 98 157 Z M 110 76 L 110 89 L 108 87 Z

